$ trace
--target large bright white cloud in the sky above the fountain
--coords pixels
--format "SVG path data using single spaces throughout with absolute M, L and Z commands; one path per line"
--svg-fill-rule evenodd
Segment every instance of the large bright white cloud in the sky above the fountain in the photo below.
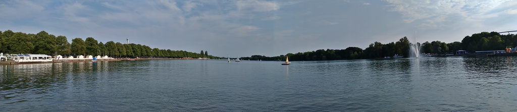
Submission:
M 402 13 L 404 21 L 412 23 L 424 20 L 426 24 L 437 24 L 448 21 L 451 16 L 460 16 L 464 21 L 480 21 L 489 17 L 497 17 L 494 9 L 507 1 L 412 1 L 385 0 L 390 3 L 392 11 Z

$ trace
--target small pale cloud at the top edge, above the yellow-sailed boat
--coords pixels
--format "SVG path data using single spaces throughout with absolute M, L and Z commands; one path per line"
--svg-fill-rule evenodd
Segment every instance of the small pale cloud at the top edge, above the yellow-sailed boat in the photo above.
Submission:
M 268 12 L 280 9 L 280 5 L 276 2 L 258 0 L 238 1 L 236 6 L 238 10 L 250 9 L 257 12 Z

